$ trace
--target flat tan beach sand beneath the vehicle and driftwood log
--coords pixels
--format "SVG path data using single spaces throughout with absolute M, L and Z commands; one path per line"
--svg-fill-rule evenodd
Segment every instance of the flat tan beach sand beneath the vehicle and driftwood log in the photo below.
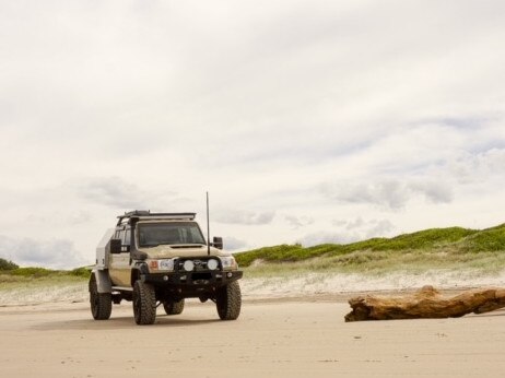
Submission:
M 94 321 L 86 303 L 0 308 L 0 376 L 503 377 L 505 311 L 345 323 L 345 295 L 246 299 L 238 320 L 188 302 L 134 324 L 130 303 Z

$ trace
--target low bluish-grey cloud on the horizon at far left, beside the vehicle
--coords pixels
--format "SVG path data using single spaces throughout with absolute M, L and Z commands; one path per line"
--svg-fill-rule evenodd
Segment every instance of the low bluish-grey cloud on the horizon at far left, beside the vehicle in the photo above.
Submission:
M 93 263 L 93 260 L 85 260 L 68 239 L 36 240 L 2 236 L 0 256 L 21 267 L 69 269 Z

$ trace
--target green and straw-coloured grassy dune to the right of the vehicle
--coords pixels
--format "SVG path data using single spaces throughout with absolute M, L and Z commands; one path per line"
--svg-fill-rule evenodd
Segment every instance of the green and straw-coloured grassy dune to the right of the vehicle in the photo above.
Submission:
M 495 275 L 505 268 L 505 225 L 482 231 L 433 228 L 348 245 L 282 245 L 235 256 L 252 276 L 280 272 L 419 274 L 427 270 L 471 270 Z

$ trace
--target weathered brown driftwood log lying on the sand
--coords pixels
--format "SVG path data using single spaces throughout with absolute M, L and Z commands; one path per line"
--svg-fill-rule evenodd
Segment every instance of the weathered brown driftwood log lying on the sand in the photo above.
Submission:
M 505 288 L 471 290 L 445 297 L 433 286 L 424 286 L 413 295 L 359 296 L 349 299 L 349 304 L 352 311 L 345 315 L 345 321 L 457 318 L 505 307 Z

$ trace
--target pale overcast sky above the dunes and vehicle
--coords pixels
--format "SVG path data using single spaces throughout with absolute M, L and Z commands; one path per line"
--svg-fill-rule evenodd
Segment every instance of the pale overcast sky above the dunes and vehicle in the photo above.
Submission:
M 505 222 L 505 2 L 0 0 L 0 257 L 116 216 L 228 250 Z

